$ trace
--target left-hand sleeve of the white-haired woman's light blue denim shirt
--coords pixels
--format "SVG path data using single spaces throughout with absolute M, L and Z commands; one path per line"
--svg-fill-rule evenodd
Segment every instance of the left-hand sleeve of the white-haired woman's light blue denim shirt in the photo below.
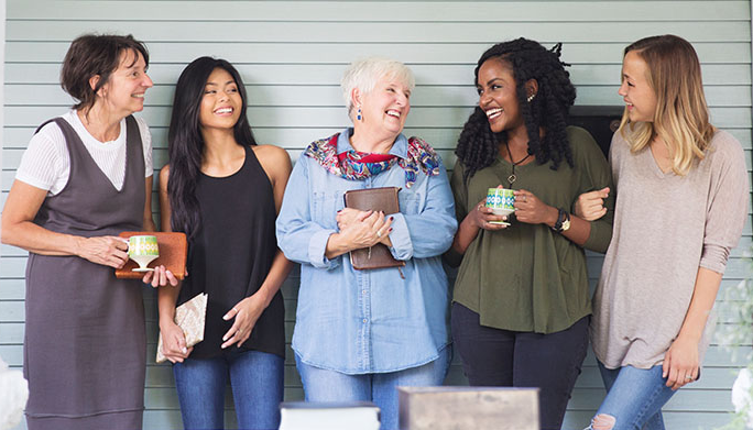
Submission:
M 276 221 L 277 245 L 288 260 L 330 269 L 339 260 L 325 256 L 327 241 L 334 230 L 312 220 L 308 158 L 301 156 L 285 188 L 285 197 Z

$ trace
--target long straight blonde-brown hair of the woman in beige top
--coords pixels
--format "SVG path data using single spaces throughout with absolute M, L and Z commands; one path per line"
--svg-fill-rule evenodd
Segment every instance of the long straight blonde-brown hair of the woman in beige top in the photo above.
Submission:
M 716 128 L 709 122 L 709 108 L 703 96 L 700 62 L 692 45 L 672 34 L 642 38 L 623 53 L 637 54 L 647 65 L 646 80 L 656 93 L 653 122 L 630 124 L 628 109 L 620 132 L 633 153 L 648 145 L 654 136 L 662 139 L 673 157 L 673 172 L 687 175 L 711 142 Z

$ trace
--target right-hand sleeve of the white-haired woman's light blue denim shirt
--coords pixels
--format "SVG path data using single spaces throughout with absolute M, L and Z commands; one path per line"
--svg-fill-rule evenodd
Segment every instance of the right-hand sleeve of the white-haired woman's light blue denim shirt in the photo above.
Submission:
M 396 260 L 438 256 L 452 244 L 458 223 L 447 172 L 441 162 L 439 166 L 439 174 L 427 178 L 422 210 L 415 214 L 393 214 L 390 240 Z

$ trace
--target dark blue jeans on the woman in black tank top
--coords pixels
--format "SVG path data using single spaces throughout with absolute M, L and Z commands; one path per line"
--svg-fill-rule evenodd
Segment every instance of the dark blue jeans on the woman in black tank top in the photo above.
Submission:
M 277 429 L 283 399 L 283 357 L 233 350 L 214 359 L 173 365 L 186 429 L 223 429 L 225 387 L 230 376 L 239 429 Z

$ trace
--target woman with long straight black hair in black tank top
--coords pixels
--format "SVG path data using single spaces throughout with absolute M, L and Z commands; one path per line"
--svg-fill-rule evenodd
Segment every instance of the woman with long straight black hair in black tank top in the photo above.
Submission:
M 170 165 L 160 173 L 162 229 L 188 235 L 186 278 L 160 287 L 163 353 L 173 362 L 183 423 L 223 428 L 227 376 L 238 426 L 276 429 L 283 398 L 284 306 L 292 264 L 274 221 L 291 173 L 285 150 L 258 145 L 238 70 L 190 63 L 175 88 Z M 186 348 L 175 306 L 208 294 L 204 341 Z

